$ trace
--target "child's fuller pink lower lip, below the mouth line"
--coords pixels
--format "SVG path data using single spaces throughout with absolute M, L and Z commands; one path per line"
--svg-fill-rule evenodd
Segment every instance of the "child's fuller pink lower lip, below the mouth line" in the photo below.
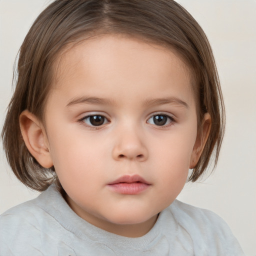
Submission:
M 142 182 L 133 183 L 115 183 L 108 184 L 108 186 L 115 192 L 120 194 L 138 194 L 149 187 L 148 184 Z

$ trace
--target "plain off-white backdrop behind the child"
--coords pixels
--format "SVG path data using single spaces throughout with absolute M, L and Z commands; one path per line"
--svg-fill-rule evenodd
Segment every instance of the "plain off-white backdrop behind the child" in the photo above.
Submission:
M 0 0 L 0 127 L 11 97 L 12 66 L 22 40 L 50 0 Z M 226 107 L 217 168 L 187 183 L 178 199 L 210 209 L 256 255 L 256 0 L 179 0 L 207 34 Z M 38 193 L 20 184 L 0 148 L 0 213 Z

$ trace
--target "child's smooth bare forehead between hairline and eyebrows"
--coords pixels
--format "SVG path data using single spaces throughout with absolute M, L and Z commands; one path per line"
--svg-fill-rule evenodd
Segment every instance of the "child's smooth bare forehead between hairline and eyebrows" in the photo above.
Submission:
M 192 93 L 191 72 L 175 50 L 126 35 L 101 35 L 69 45 L 59 54 L 54 69 L 52 88 L 74 94 L 79 93 L 76 88 L 98 94 L 102 90 L 102 97 L 113 91 L 121 94 L 122 88 L 141 87 L 148 95 L 163 95 L 167 79 L 170 83 L 181 80 L 184 91 Z M 73 86 L 74 80 L 80 86 Z

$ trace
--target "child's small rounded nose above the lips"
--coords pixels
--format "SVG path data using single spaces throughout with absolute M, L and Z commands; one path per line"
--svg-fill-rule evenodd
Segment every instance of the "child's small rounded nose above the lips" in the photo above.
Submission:
M 115 160 L 129 159 L 144 161 L 148 157 L 148 151 L 142 142 L 142 135 L 136 130 L 122 130 L 115 134 L 115 144 L 112 156 Z

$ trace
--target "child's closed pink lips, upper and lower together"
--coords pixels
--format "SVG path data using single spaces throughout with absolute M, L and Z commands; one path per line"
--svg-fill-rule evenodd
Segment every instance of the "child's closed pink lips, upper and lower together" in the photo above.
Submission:
M 139 175 L 124 175 L 107 184 L 114 192 L 121 194 L 138 194 L 147 189 L 150 184 Z

